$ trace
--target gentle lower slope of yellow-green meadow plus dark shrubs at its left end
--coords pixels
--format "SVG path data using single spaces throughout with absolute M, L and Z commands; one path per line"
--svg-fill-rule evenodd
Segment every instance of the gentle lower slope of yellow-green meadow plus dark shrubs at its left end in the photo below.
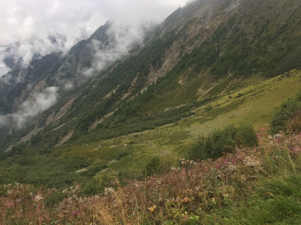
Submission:
M 178 158 L 184 156 L 189 144 L 199 135 L 244 122 L 256 130 L 267 128 L 275 108 L 299 93 L 300 76 L 299 70 L 293 70 L 260 83 L 247 79 L 246 85 L 256 84 L 244 88 L 239 82 L 238 90 L 232 90 L 231 94 L 220 94 L 225 87 L 220 88 L 215 91 L 218 97 L 190 109 L 194 115 L 154 130 L 97 141 L 91 141 L 94 139 L 91 133 L 81 137 L 76 144 L 58 146 L 53 151 L 23 152 L 2 161 L 0 178 L 3 183 L 43 183 L 46 187 L 66 187 L 73 181 L 88 181 L 95 175 L 104 179 L 111 176 L 141 179 L 146 164 L 153 157 L 159 157 L 166 167 L 177 166 Z M 218 83 L 215 87 L 220 86 Z M 233 87 L 229 85 L 229 88 Z M 47 161 L 51 163 L 48 165 Z M 80 169 L 84 171 L 74 173 Z M 36 174 L 37 170 L 39 174 Z

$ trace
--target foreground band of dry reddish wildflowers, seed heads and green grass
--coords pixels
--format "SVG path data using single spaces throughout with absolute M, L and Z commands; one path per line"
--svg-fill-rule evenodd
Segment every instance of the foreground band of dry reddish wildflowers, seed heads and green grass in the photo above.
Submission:
M 45 200 L 54 189 L 2 186 L 0 224 L 300 224 L 301 136 L 264 133 L 257 147 L 181 159 L 169 173 L 123 187 L 113 179 L 98 195 L 82 196 L 74 184 L 52 206 Z

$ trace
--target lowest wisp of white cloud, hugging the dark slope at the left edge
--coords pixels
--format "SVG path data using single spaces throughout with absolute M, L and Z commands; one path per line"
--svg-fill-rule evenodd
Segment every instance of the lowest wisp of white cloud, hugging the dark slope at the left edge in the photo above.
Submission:
M 13 121 L 13 124 L 17 128 L 22 128 L 26 124 L 26 121 L 56 103 L 58 97 L 57 91 L 57 87 L 46 88 L 43 93 L 37 93 L 30 100 L 24 102 L 18 112 L 0 115 L 0 126 L 8 125 L 9 122 Z

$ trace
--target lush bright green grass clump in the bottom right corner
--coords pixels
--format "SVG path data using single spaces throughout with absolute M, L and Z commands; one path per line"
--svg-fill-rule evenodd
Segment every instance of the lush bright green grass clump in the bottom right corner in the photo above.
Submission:
M 300 158 L 287 152 L 273 153 L 277 160 L 269 159 L 255 188 L 246 197 L 228 202 L 223 208 L 213 210 L 217 219 L 206 224 L 265 225 L 301 223 Z M 246 190 L 245 190 L 246 191 Z

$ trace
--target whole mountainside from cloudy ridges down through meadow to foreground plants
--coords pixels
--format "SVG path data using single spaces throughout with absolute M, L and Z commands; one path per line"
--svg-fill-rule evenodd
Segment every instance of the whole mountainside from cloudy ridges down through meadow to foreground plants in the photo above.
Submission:
M 1 78 L 0 182 L 63 187 L 104 171 L 140 174 L 150 157 L 172 164 L 228 122 L 266 125 L 299 92 L 298 0 L 190 1 L 86 76 L 97 51 L 114 48 L 110 26 Z M 52 104 L 22 117 L 40 93 Z

